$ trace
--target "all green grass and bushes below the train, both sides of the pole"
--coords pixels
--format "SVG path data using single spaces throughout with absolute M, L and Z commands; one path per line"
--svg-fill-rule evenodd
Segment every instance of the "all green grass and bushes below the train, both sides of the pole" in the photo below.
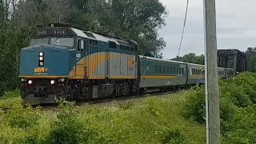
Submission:
M 222 143 L 256 143 L 256 74 L 220 82 Z M 1 108 L 12 107 L 5 112 Z M 0 99 L 0 143 L 206 143 L 204 88 L 55 110 Z

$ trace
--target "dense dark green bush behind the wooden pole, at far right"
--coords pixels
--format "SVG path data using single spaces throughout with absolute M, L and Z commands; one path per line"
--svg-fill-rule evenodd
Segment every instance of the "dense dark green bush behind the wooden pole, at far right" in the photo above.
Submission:
M 237 78 L 219 82 L 219 86 L 223 142 L 255 143 L 256 74 L 240 74 Z M 205 123 L 204 93 L 204 87 L 190 92 L 185 106 L 186 118 Z

